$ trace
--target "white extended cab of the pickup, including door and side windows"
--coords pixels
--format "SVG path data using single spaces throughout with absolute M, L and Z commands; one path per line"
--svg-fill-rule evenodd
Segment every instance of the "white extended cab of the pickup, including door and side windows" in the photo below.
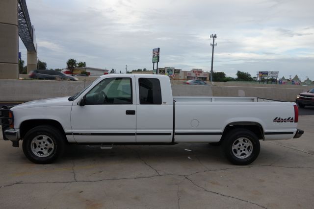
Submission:
M 172 141 L 173 100 L 168 76 L 110 74 L 101 79 L 73 98 L 69 140 Z

